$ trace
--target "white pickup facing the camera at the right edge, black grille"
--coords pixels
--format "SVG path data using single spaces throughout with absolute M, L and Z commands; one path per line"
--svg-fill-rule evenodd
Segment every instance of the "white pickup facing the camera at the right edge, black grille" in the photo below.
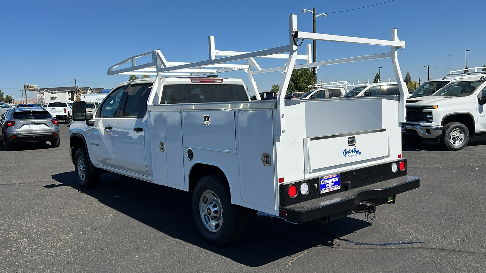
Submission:
M 410 144 L 439 140 L 447 150 L 458 151 L 468 145 L 470 136 L 485 133 L 486 71 L 479 69 L 451 71 L 443 79 L 447 84 L 431 96 L 407 100 L 403 140 Z

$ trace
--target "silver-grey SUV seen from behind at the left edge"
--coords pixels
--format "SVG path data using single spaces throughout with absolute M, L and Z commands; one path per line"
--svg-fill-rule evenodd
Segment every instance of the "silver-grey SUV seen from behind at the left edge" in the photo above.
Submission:
M 0 116 L 3 151 L 11 151 L 13 143 L 50 141 L 52 148 L 59 147 L 57 119 L 42 108 L 8 109 Z

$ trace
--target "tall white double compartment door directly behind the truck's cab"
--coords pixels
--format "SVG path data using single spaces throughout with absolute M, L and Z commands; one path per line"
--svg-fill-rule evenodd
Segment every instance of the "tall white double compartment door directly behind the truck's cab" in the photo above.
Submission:
M 181 114 L 151 112 L 150 122 L 154 183 L 187 190 L 184 181 Z

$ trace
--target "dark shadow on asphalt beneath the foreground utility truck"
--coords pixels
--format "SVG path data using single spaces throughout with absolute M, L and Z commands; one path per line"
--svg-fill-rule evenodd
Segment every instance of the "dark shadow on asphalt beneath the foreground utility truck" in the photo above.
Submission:
M 250 267 L 293 256 L 315 246 L 349 243 L 340 237 L 371 225 L 350 217 L 335 220 L 330 225 L 318 222 L 297 224 L 259 212 L 257 216 L 249 217 L 241 240 L 228 247 L 216 247 L 202 239 L 195 227 L 191 192 L 176 191 L 114 173 L 102 174 L 97 188 L 85 189 L 74 177 L 74 171 L 54 174 L 52 178 L 62 184 L 44 187 L 72 187 L 170 237 Z

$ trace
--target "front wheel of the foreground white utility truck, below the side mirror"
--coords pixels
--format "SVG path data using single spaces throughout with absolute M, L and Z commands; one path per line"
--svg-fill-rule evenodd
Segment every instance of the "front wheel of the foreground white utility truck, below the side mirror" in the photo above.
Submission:
M 100 170 L 91 170 L 89 159 L 84 147 L 76 150 L 74 154 L 74 171 L 79 185 L 83 188 L 94 188 L 100 182 Z

